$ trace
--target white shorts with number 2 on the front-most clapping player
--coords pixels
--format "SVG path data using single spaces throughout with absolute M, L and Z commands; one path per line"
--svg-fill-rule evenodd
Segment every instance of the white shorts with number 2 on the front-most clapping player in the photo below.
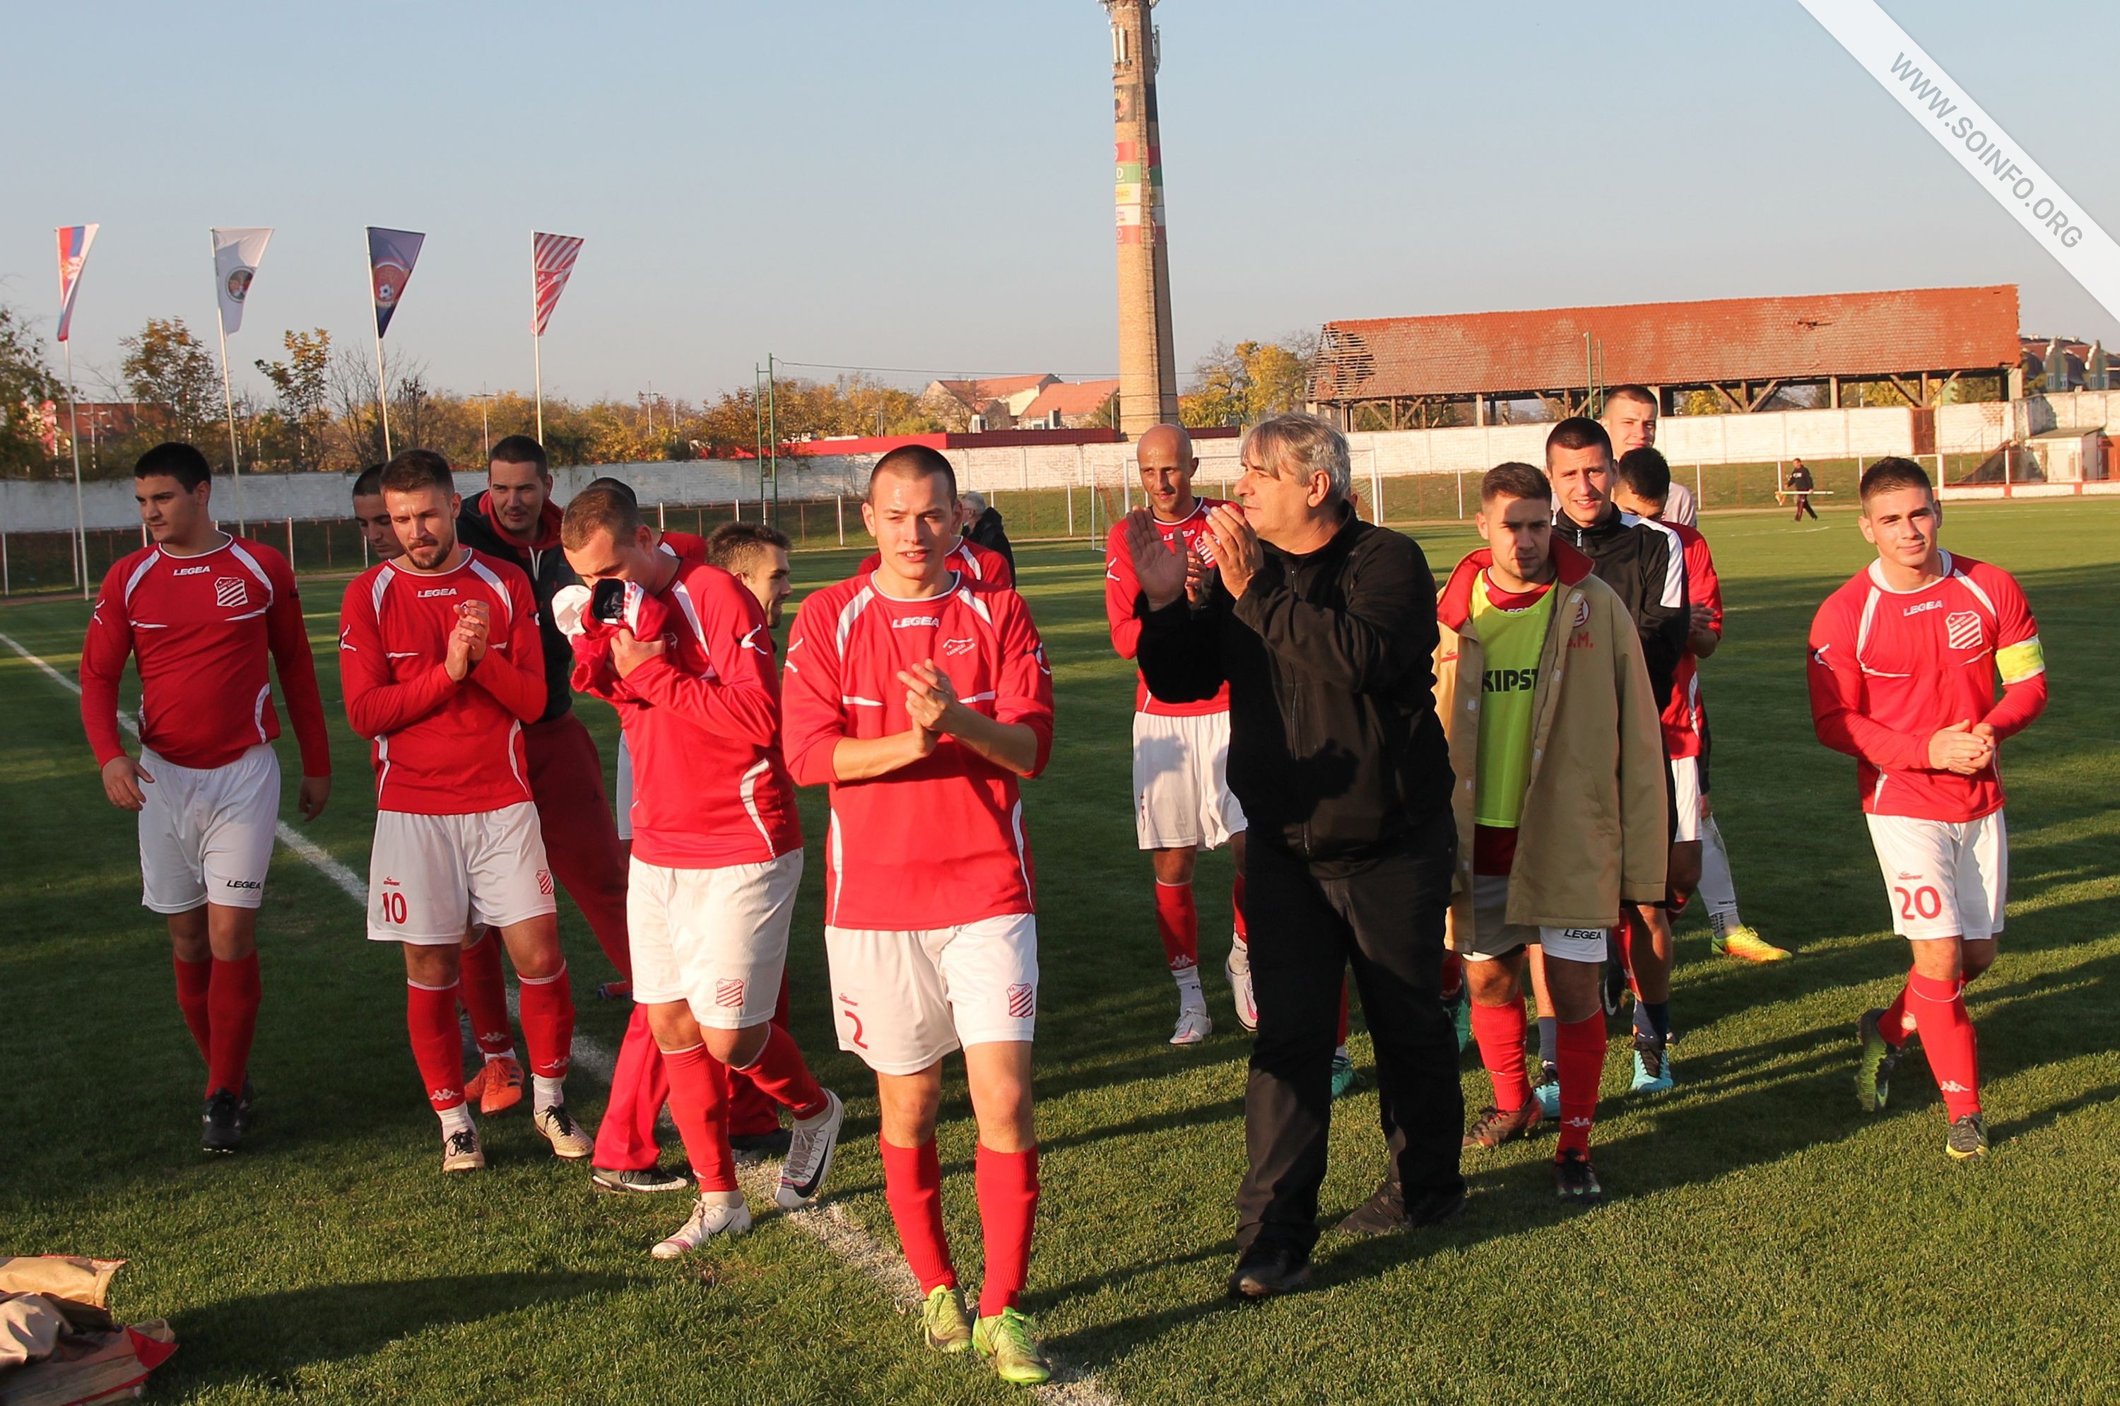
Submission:
M 1039 1014 L 1039 920 L 886 933 L 827 927 L 840 1048 L 876 1073 L 918 1073 L 962 1045 L 1028 1041 Z

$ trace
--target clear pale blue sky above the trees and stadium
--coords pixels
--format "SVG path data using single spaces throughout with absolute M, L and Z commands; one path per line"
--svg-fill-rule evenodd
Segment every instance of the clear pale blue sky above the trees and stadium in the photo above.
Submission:
M 2120 341 L 1794 0 L 1605 8 L 1164 0 L 1181 365 L 1325 318 L 1989 282 L 2025 331 Z M 1887 8 L 2120 231 L 2120 6 Z M 572 397 L 767 352 L 1117 365 L 1094 0 L 74 0 L 4 32 L 0 299 L 49 335 L 51 229 L 100 221 L 83 367 L 148 316 L 212 339 L 216 223 L 278 227 L 240 367 L 286 327 L 367 346 L 371 223 L 428 233 L 390 346 L 456 390 L 530 386 L 532 227 L 587 235 L 545 337 Z

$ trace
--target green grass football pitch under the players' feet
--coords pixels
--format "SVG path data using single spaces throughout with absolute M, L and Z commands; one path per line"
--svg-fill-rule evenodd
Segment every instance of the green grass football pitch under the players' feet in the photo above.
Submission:
M 2008 749 L 2016 882 L 1995 971 L 1972 990 L 1995 1152 L 1942 1156 L 1919 1058 L 1895 1109 L 1851 1092 L 1853 1022 L 1906 967 L 1855 810 L 1853 763 L 1810 736 L 1804 628 L 1863 560 L 1851 515 L 1709 522 L 1730 604 L 1707 666 L 1715 799 L 1745 914 L 1798 950 L 1777 967 L 1709 952 L 1688 918 L 1673 995 L 1673 1094 L 1622 1096 L 1607 1067 L 1596 1162 L 1607 1205 L 1554 1202 L 1550 1135 L 1467 1158 L 1471 1211 L 1444 1230 L 1319 1245 L 1314 1291 L 1225 1306 L 1242 1168 L 1247 1039 L 1211 978 L 1217 1033 L 1164 1043 L 1149 869 L 1128 814 L 1130 670 L 1111 655 L 1098 560 L 1022 551 L 1058 689 L 1058 742 L 1026 785 L 1041 876 L 1039 1124 L 1045 1196 L 1028 1308 L 1077 1374 L 1047 1400 L 1119 1402 L 2084 1402 L 2120 1400 L 2109 1323 L 2120 1094 L 2120 505 L 1953 507 L 1946 543 L 2022 579 L 2052 670 L 2048 715 Z M 1442 575 L 1469 530 L 1425 539 Z M 823 585 L 850 553 L 803 553 Z M 337 793 L 307 833 L 367 872 L 365 744 L 335 681 L 339 581 L 307 585 Z M 72 672 L 81 602 L 0 609 L 0 632 Z M 831 1243 L 761 1211 L 683 1264 L 647 1247 L 683 1198 L 611 1198 L 543 1156 L 522 1111 L 485 1124 L 494 1171 L 443 1179 L 405 1045 L 401 965 L 363 914 L 280 850 L 267 897 L 259 1128 L 237 1158 L 197 1145 L 201 1073 L 167 942 L 138 908 L 131 819 L 100 793 L 76 700 L 0 651 L 0 1253 L 131 1262 L 117 1304 L 172 1319 L 157 1400 L 273 1402 L 999 1402 L 971 1359 L 924 1353 L 914 1319 Z M 613 742 L 608 708 L 583 704 Z M 286 751 L 293 770 L 293 751 Z M 818 793 L 806 793 L 812 842 Z M 293 821 L 293 787 L 286 816 Z M 1206 961 L 1227 933 L 1227 857 L 1202 861 Z M 865 1071 L 833 1048 L 812 863 L 795 931 L 795 1031 L 848 1092 L 829 1202 L 895 1258 Z M 617 1048 L 625 1009 L 566 916 L 581 1035 Z M 1357 1022 L 1359 1024 L 1359 1022 Z M 1357 1029 L 1357 1062 L 1367 1039 Z M 1486 1101 L 1467 1052 L 1465 1096 Z M 977 1283 L 962 1086 L 943 1164 L 960 1268 Z M 602 1092 L 583 1071 L 575 1105 Z M 681 1156 L 670 1139 L 670 1158 Z M 1327 1215 L 1380 1171 L 1374 1088 L 1338 1105 Z M 816 1224 L 812 1222 L 812 1226 Z M 1100 1395 L 1098 1395 L 1100 1393 Z

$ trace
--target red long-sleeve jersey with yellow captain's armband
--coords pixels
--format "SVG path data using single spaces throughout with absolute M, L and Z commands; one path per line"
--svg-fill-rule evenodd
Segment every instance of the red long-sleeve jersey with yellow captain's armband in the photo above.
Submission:
M 1810 621 L 1810 719 L 1821 742 L 1855 757 L 1870 814 L 1978 821 L 2001 810 L 1997 768 L 1929 770 L 1929 738 L 1989 723 L 2001 740 L 2046 710 L 2039 626 L 2016 579 L 1950 551 L 1942 570 L 1919 592 L 1895 592 L 1872 562 Z

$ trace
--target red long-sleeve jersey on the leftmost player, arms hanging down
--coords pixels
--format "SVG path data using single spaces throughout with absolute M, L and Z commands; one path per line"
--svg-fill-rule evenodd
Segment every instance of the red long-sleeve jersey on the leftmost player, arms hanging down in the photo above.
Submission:
M 216 768 L 280 736 L 265 655 L 301 746 L 303 776 L 331 776 L 324 700 L 286 558 L 244 537 L 172 556 L 121 558 L 81 645 L 81 725 L 104 766 L 123 755 L 119 679 L 140 660 L 140 742 L 176 766 Z

